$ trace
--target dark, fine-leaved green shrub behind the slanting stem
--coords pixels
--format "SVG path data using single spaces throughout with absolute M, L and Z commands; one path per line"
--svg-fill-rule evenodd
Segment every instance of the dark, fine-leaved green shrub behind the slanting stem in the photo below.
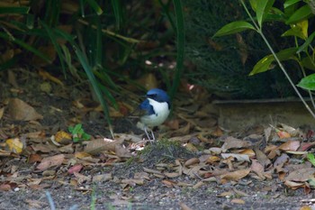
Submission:
M 293 88 L 278 66 L 272 71 L 248 77 L 260 59 L 270 54 L 266 43 L 254 31 L 211 39 L 225 24 L 248 20 L 238 1 L 184 0 L 187 28 L 187 59 L 195 69 L 188 75 L 217 96 L 227 98 L 269 98 L 294 96 Z M 276 6 L 283 4 L 276 2 Z M 314 23 L 314 22 L 312 22 Z M 283 22 L 267 22 L 264 32 L 275 51 L 295 45 L 293 37 L 282 37 L 288 29 Z M 296 84 L 302 72 L 293 61 L 286 63 Z

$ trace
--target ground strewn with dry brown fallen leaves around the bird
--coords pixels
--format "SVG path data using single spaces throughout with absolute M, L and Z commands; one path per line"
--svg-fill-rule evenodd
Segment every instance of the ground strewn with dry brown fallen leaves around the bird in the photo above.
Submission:
M 86 82 L 2 76 L 0 209 L 311 209 L 311 129 L 229 132 L 210 95 L 182 88 L 149 143 L 132 116 L 143 93 L 124 87 L 112 138 Z

